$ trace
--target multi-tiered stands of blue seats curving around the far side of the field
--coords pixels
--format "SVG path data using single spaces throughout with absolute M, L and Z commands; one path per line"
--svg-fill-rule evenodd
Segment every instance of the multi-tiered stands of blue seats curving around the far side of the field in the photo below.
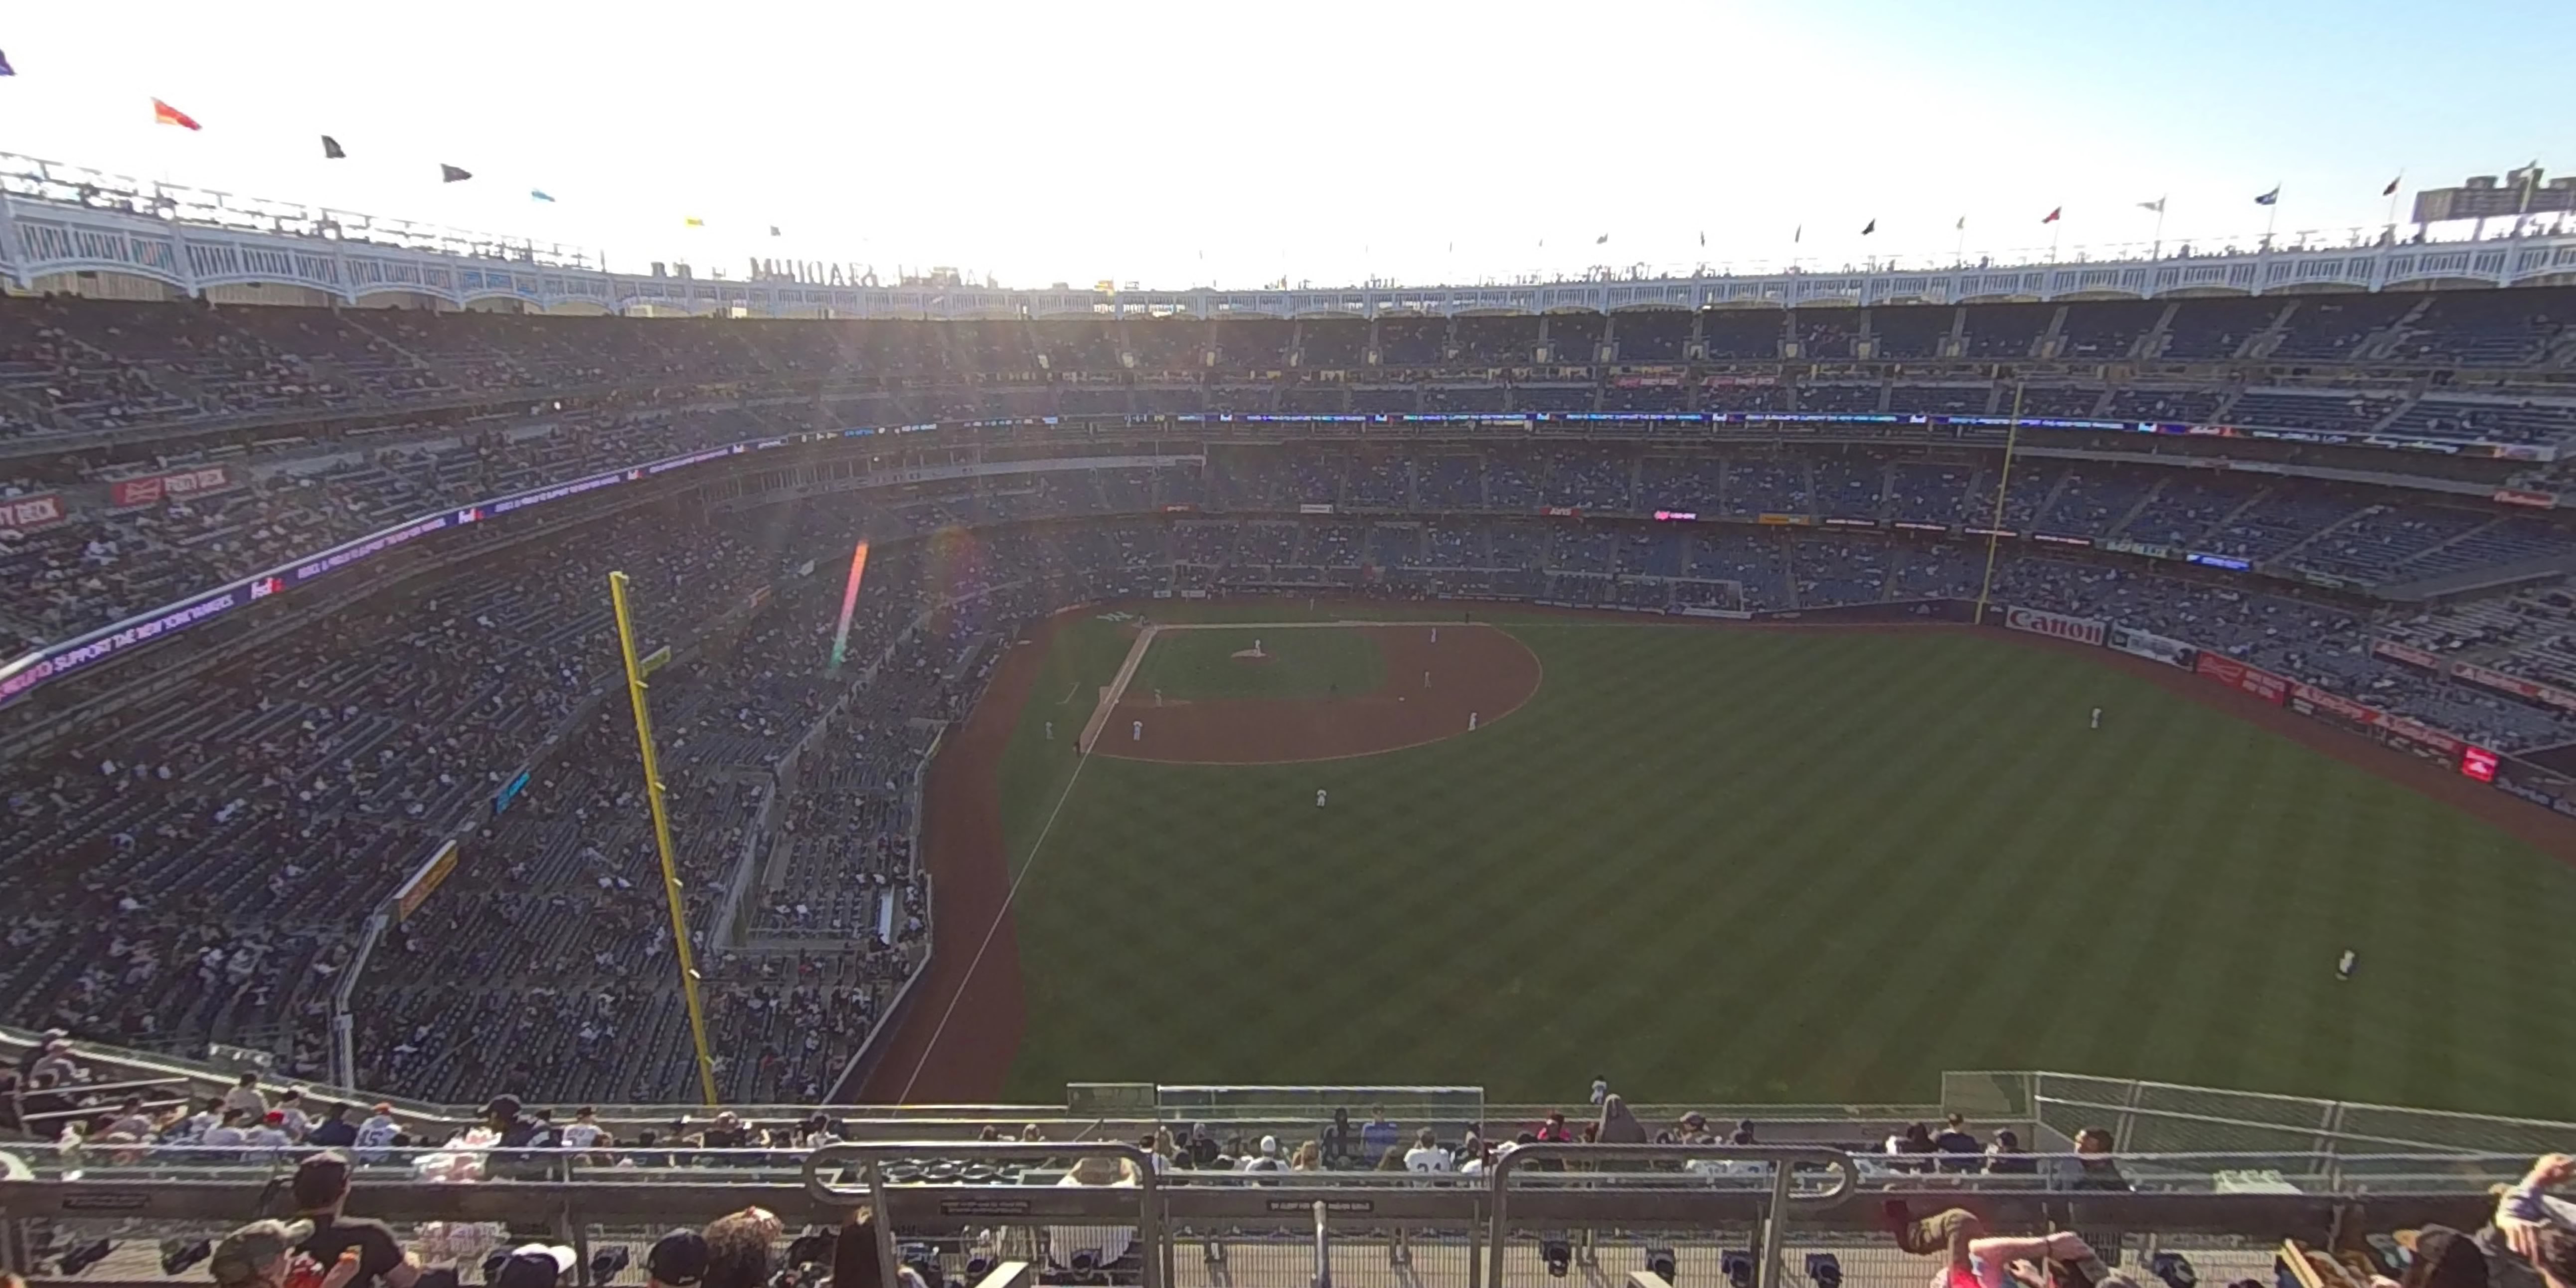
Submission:
M 2522 755 L 2504 781 L 2548 801 L 2571 317 L 2568 289 L 1218 322 L 0 299 L 0 1018 L 420 1097 L 685 1097 L 611 569 L 675 652 L 657 732 L 734 1100 L 855 1087 L 930 938 L 925 755 L 1082 603 L 1991 590 Z

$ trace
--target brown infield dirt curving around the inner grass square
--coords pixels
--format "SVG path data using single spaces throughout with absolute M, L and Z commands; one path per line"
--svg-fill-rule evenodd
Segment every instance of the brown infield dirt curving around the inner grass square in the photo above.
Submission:
M 1468 734 L 1468 716 L 1484 729 L 1520 711 L 1540 680 L 1538 654 L 1528 644 L 1481 623 L 1262 621 L 1162 626 L 1159 634 L 1193 629 L 1352 631 L 1378 647 L 1386 659 L 1386 685 L 1340 698 L 1224 698 L 1177 706 L 1157 706 L 1151 696 L 1118 688 L 1108 732 L 1092 744 L 1092 755 L 1172 765 L 1285 765 L 1399 752 Z M 1425 672 L 1430 685 L 1422 683 Z M 1144 739 L 1128 737 L 1136 721 L 1144 721 Z

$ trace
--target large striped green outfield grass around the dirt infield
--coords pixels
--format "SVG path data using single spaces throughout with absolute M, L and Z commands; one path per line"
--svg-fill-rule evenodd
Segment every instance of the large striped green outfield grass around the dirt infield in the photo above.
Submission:
M 2066 1069 L 2576 1115 L 2576 871 L 2491 824 L 2002 639 L 1512 631 L 1546 685 L 1476 737 L 1079 775 L 1128 636 L 1061 631 L 1002 765 L 1036 848 L 1012 1095 L 1929 1100 L 1942 1069 Z

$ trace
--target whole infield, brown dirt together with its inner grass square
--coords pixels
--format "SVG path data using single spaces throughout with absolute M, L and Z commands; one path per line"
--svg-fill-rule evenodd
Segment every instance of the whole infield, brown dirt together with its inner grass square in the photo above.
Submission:
M 1538 693 L 1538 654 L 1494 626 L 1151 626 L 1103 696 L 1092 755 L 1283 765 L 1484 729 Z

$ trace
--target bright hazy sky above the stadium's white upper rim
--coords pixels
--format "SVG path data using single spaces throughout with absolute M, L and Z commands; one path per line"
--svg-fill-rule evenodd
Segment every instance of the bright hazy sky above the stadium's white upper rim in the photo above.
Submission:
M 701 276 L 2102 258 L 2576 165 L 2566 0 L 121 0 L 8 5 L 0 54 L 0 152 Z

